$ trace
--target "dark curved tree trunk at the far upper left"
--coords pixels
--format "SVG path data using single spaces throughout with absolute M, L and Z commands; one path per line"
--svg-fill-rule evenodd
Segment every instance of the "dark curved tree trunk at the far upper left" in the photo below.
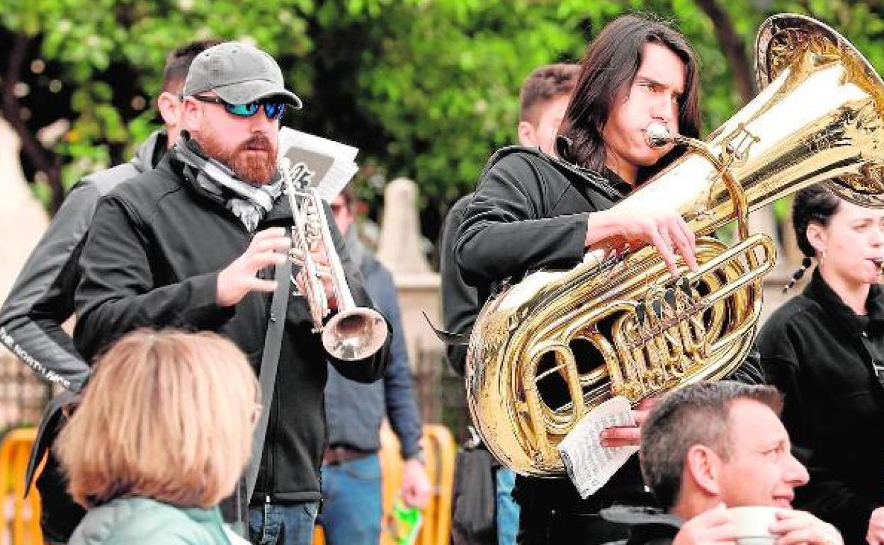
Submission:
M 28 130 L 27 124 L 21 119 L 21 103 L 15 95 L 15 84 L 21 77 L 22 65 L 27 57 L 27 46 L 30 40 L 23 32 L 16 33 L 12 40 L 9 52 L 9 65 L 4 74 L 3 85 L 0 87 L 0 96 L 3 96 L 3 117 L 12 127 L 21 140 L 21 148 L 25 155 L 34 164 L 36 170 L 42 170 L 49 178 L 52 190 L 52 210 L 61 206 L 65 198 L 65 189 L 61 185 L 61 167 L 57 156 L 49 149 L 43 148 L 40 140 Z

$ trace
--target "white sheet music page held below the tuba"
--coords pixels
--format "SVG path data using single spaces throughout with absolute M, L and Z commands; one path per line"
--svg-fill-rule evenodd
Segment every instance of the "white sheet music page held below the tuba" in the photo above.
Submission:
M 568 477 L 583 499 L 605 486 L 629 457 L 638 451 L 635 446 L 603 447 L 599 437 L 605 428 L 635 426 L 631 409 L 626 397 L 608 399 L 584 416 L 559 443 L 559 454 Z

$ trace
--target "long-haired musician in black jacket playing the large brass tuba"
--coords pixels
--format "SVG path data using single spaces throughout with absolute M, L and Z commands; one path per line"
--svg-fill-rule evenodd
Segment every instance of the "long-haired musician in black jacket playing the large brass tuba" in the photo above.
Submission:
M 697 59 L 684 37 L 655 20 L 625 16 L 591 42 L 574 98 L 560 126 L 556 154 L 503 148 L 479 180 L 458 231 L 455 256 L 479 302 L 495 285 L 537 269 L 570 269 L 590 251 L 655 246 L 677 274 L 676 254 L 697 268 L 694 234 L 674 209 L 610 210 L 678 152 L 653 148 L 652 123 L 699 132 Z M 581 362 L 591 366 L 593 363 Z M 759 382 L 751 362 L 734 377 Z M 643 407 L 644 408 L 644 407 Z M 635 413 L 641 423 L 646 411 Z M 637 444 L 639 429 L 609 428 L 605 446 Z M 566 479 L 518 478 L 521 543 L 600 543 L 626 537 L 601 520 L 613 503 L 652 504 L 636 457 L 597 494 L 583 500 Z

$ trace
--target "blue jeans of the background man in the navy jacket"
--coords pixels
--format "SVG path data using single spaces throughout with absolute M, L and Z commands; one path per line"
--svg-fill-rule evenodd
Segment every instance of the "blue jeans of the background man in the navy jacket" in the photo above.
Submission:
M 381 462 L 377 453 L 323 466 L 323 526 L 328 545 L 377 545 L 381 535 Z

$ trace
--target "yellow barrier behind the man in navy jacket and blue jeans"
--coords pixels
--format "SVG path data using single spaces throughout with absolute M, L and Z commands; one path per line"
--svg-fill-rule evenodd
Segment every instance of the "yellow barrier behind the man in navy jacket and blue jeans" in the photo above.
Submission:
M 451 502 L 454 484 L 454 458 L 457 445 L 448 428 L 438 424 L 423 426 L 421 437 L 426 454 L 427 476 L 433 486 L 433 493 L 423 508 L 423 526 L 417 536 L 418 545 L 447 545 L 451 537 Z M 380 545 L 396 545 L 387 532 L 392 503 L 402 486 L 402 458 L 399 439 L 388 425 L 381 428 L 381 473 L 384 519 L 382 521 Z M 322 526 L 316 526 L 313 545 L 324 545 Z

